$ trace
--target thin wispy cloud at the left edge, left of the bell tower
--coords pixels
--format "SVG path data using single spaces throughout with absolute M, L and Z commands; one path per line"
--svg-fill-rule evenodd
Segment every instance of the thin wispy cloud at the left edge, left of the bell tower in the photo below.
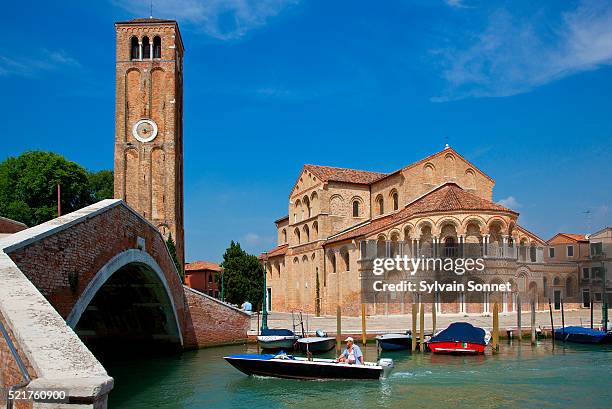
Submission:
M 34 55 L 0 55 L 0 76 L 34 76 L 42 71 L 52 71 L 62 67 L 79 67 L 77 60 L 62 50 L 39 50 Z

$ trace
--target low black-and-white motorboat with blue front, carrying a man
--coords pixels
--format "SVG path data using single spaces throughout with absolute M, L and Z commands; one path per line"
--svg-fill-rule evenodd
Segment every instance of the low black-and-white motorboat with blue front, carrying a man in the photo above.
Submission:
M 234 368 L 247 375 L 273 376 L 288 379 L 379 379 L 393 369 L 393 360 L 380 359 L 351 365 L 334 359 L 308 359 L 284 353 L 235 354 L 224 357 Z

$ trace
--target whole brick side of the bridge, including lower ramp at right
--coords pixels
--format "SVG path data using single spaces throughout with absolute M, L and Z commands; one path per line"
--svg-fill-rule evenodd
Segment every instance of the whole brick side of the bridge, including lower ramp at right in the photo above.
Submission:
M 112 205 L 67 229 L 47 235 L 9 252 L 9 257 L 63 318 L 94 278 L 115 255 L 136 248 L 145 239 L 145 250 L 159 264 L 175 301 L 186 347 L 234 343 L 246 339 L 248 316 L 224 303 L 186 291 L 166 244 L 157 230 L 123 203 Z M 76 291 L 69 275 L 79 277 Z

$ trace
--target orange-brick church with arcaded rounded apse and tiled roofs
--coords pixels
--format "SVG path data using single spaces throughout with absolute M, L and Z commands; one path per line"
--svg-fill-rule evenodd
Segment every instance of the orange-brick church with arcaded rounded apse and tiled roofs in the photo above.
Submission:
M 436 294 L 438 312 L 483 314 L 496 301 L 514 311 L 519 290 L 524 309 L 530 299 L 546 309 L 555 277 L 570 280 L 571 296 L 563 297 L 568 307 L 578 306 L 575 266 L 545 264 L 544 241 L 519 225 L 516 211 L 493 202 L 493 186 L 448 146 L 392 173 L 304 165 L 288 215 L 275 222 L 278 245 L 263 255 L 271 309 L 335 314 L 339 305 L 343 314 L 358 315 L 360 277 L 372 257 L 451 255 L 467 245 L 486 259 L 487 275 L 477 281 L 510 282 L 514 291 Z M 361 244 L 366 240 L 376 243 L 376 254 Z M 368 313 L 405 313 L 419 299 L 389 297 L 369 303 Z

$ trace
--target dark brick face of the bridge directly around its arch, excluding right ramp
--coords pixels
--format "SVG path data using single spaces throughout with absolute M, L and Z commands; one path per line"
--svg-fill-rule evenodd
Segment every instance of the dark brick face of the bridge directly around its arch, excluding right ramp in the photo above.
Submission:
M 66 318 L 95 274 L 115 255 L 136 248 L 138 237 L 166 276 L 177 313 L 183 315 L 182 284 L 157 231 L 125 206 L 115 206 L 68 229 L 9 253 L 11 259 L 51 305 Z M 68 277 L 77 274 L 78 288 Z

